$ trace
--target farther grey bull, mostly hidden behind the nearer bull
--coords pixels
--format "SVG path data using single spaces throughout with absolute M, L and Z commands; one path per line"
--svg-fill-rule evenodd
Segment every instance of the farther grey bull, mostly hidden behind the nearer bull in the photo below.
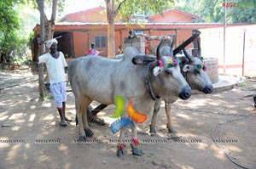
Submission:
M 189 83 L 189 86 L 192 89 L 201 91 L 203 93 L 212 93 L 212 82 L 210 81 L 209 77 L 207 76 L 207 68 L 203 65 L 203 60 L 201 58 L 201 46 L 200 42 L 198 42 L 198 56 L 193 57 L 190 56 L 185 49 L 183 49 L 183 53 L 185 56 L 180 58 L 180 67 L 185 77 L 186 81 Z M 172 48 L 172 47 L 171 47 Z M 162 55 L 170 55 L 172 53 L 170 47 L 165 46 L 161 48 Z M 167 125 L 168 132 L 175 133 L 175 130 L 172 127 L 171 121 L 171 104 L 177 101 L 177 97 L 170 96 L 167 98 L 157 99 L 154 104 L 154 114 L 151 119 L 150 124 L 150 132 L 156 132 L 155 125 L 156 125 L 156 116 L 160 110 L 160 102 L 162 99 L 165 100 L 165 110 L 166 110 L 166 117 L 167 117 Z

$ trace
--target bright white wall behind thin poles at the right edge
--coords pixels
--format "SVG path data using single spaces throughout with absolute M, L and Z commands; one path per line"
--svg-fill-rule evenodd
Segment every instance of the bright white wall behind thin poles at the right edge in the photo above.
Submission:
M 245 76 L 256 76 L 256 25 L 226 28 L 226 73 L 241 76 L 243 36 L 245 41 Z M 224 28 L 201 29 L 202 56 L 218 58 L 218 65 L 224 65 Z M 219 69 L 223 72 L 223 69 Z

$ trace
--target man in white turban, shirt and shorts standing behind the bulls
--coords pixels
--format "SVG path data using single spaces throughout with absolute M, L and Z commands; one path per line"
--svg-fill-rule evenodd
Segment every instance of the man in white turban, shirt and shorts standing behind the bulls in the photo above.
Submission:
M 55 98 L 55 105 L 61 118 L 61 127 L 67 127 L 66 121 L 72 121 L 65 115 L 67 93 L 66 93 L 66 76 L 65 67 L 67 62 L 64 54 L 57 51 L 57 40 L 51 39 L 46 41 L 46 47 L 49 53 L 38 57 L 38 63 L 45 63 L 49 75 L 49 87 Z

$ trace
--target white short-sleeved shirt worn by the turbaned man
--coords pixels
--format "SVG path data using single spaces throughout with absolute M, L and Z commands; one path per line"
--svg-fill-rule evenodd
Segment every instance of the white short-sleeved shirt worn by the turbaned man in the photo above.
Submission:
M 60 56 L 58 59 L 55 59 L 49 53 L 43 54 L 38 58 L 39 64 L 45 63 L 47 66 L 49 83 L 66 82 L 64 67 L 67 67 L 67 62 L 64 58 L 64 54 L 59 53 Z

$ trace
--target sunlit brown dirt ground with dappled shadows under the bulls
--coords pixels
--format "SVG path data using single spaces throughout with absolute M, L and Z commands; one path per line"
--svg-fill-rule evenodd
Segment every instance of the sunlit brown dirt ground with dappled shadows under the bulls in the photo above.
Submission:
M 67 127 L 59 126 L 54 100 L 38 99 L 36 79 L 38 76 L 27 70 L 0 72 L 0 169 L 241 168 L 224 152 L 239 165 L 256 168 L 256 110 L 251 105 L 256 82 L 247 80 L 228 91 L 178 100 L 172 105 L 172 122 L 180 137 L 176 140 L 167 133 L 162 104 L 157 135 L 148 133 L 152 114 L 138 126 L 138 138 L 144 140 L 143 155 L 131 155 L 127 144 L 128 155 L 118 158 L 115 154 L 118 134 L 113 134 L 110 127 L 91 124 L 94 138 L 88 143 L 76 143 L 78 127 L 74 122 Z M 109 106 L 99 117 L 112 122 L 109 116 L 114 108 Z M 67 115 L 73 119 L 74 109 L 73 93 L 69 92 Z M 129 130 L 125 135 L 125 139 L 130 138 Z M 212 135 L 220 147 L 214 144 Z

